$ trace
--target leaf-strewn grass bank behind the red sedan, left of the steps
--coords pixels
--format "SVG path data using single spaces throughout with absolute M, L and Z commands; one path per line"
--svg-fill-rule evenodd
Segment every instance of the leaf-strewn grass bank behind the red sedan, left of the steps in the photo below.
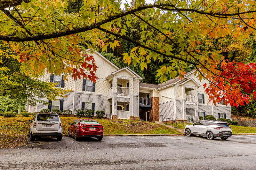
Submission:
M 16 117 L 5 118 L 0 116 L 0 147 L 15 147 L 26 143 L 29 133 L 28 120 L 33 119 L 17 115 Z M 68 133 L 68 123 L 72 123 L 77 117 L 62 117 L 62 134 Z M 139 122 L 134 120 L 122 119 L 97 119 L 103 125 L 104 134 L 179 134 L 174 129 L 167 128 L 163 125 L 158 125 L 153 122 Z

